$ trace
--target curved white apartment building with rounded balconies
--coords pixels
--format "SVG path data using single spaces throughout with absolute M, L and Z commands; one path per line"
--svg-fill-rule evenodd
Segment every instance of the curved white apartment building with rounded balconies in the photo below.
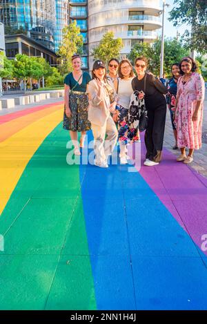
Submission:
M 160 0 L 88 0 L 89 53 L 108 31 L 123 39 L 121 57 L 137 42 L 151 43 L 161 28 L 161 10 Z M 92 57 L 89 63 L 91 69 Z

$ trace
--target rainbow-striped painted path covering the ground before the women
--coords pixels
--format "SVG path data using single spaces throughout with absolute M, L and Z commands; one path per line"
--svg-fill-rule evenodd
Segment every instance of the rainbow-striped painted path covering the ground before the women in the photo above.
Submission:
M 62 112 L 0 117 L 0 308 L 207 309 L 206 178 L 69 166 Z

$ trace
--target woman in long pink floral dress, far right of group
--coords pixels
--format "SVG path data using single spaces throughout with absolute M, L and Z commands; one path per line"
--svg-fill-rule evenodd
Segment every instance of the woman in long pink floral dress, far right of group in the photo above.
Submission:
M 201 148 L 201 128 L 204 110 L 204 79 L 196 73 L 197 66 L 191 57 L 184 57 L 179 64 L 182 77 L 177 82 L 175 124 L 177 146 L 181 155 L 177 161 L 193 161 L 193 151 Z M 186 148 L 189 149 L 188 156 Z

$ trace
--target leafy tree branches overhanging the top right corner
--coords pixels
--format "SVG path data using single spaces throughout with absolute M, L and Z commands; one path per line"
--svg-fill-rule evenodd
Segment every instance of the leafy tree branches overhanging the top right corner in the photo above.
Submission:
M 174 26 L 188 24 L 193 32 L 186 30 L 183 40 L 188 48 L 200 53 L 207 51 L 207 6 L 206 0 L 174 0 L 170 21 Z

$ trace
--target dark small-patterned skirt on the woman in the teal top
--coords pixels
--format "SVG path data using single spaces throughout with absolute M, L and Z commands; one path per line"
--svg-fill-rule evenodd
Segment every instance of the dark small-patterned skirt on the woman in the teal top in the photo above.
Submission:
M 87 95 L 70 94 L 69 107 L 72 115 L 67 117 L 66 108 L 64 108 L 63 128 L 67 131 L 89 131 Z

